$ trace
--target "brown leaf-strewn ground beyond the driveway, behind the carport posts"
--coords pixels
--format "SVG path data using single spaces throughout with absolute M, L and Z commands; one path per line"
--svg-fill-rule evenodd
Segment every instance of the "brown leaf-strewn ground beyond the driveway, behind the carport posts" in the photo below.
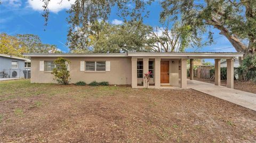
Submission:
M 214 81 L 212 81 L 210 79 L 195 78 L 194 80 L 208 82 L 208 83 L 214 83 Z M 221 80 L 220 85 L 226 87 L 227 86 L 227 81 L 226 80 Z M 237 80 L 234 80 L 234 89 L 242 90 L 242 91 L 246 91 L 246 92 L 251 92 L 253 94 L 256 94 L 256 85 L 254 83 L 252 83 L 251 81 L 237 81 Z

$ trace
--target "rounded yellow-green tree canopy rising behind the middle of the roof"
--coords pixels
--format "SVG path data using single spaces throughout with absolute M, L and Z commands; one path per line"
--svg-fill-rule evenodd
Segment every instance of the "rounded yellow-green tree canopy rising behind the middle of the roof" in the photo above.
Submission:
M 95 21 L 87 30 L 77 28 L 69 33 L 69 48 L 73 53 L 150 51 L 147 37 L 150 31 L 151 27 L 136 21 L 122 25 Z

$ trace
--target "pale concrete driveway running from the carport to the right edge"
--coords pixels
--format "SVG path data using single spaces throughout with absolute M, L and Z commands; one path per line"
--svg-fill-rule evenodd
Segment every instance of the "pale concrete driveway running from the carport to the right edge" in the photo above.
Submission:
M 256 94 L 224 86 L 215 86 L 211 83 L 196 80 L 188 80 L 188 88 L 204 92 L 205 94 L 209 94 L 256 111 Z

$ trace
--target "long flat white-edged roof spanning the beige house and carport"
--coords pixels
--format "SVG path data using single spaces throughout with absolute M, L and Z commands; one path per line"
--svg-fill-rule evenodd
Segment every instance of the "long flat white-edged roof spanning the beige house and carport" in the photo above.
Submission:
M 111 54 L 75 54 L 75 53 L 62 53 L 62 54 L 36 54 L 26 53 L 23 56 L 29 57 L 160 57 L 160 58 L 234 58 L 242 57 L 243 53 L 237 52 L 178 52 L 178 53 L 149 53 L 149 52 L 129 52 L 129 53 L 111 53 Z

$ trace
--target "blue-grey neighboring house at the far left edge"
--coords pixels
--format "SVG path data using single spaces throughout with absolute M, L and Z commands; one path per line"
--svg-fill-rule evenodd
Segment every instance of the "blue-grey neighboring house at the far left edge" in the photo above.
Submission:
M 24 78 L 25 70 L 30 70 L 28 58 L 0 54 L 0 72 L 7 74 L 7 78 Z

